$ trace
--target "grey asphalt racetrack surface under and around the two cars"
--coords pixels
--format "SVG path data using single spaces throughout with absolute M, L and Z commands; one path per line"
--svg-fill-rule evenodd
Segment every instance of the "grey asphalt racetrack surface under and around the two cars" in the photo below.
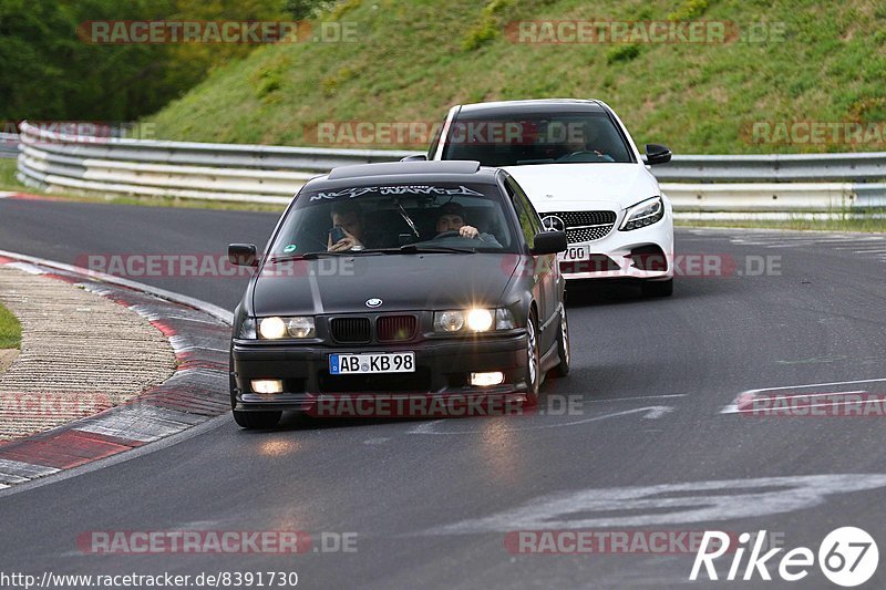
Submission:
M 0 249 L 72 263 L 224 257 L 231 241 L 264 247 L 276 220 L 0 199 Z M 536 530 L 766 530 L 787 549 L 817 553 L 831 530 L 857 526 L 886 549 L 886 416 L 741 411 L 754 395 L 886 393 L 886 240 L 678 229 L 677 248 L 681 271 L 696 276 L 678 277 L 672 298 L 641 299 L 627 286 L 569 289 L 573 370 L 546 383 L 535 415 L 285 416 L 275 432 L 245 432 L 224 416 L 175 444 L 0 493 L 0 570 L 296 571 L 307 588 L 833 587 L 817 567 L 793 584 L 759 573 L 690 582 L 694 552 L 679 547 L 526 555 L 514 541 Z M 698 276 L 704 261 L 714 276 Z M 128 278 L 226 309 L 246 283 Z M 284 529 L 328 546 L 296 556 L 101 556 L 78 546 L 96 530 Z M 336 539 L 356 539 L 354 550 Z M 780 558 L 769 565 L 776 580 Z M 720 578 L 731 560 L 718 560 Z M 883 567 L 868 587 L 886 587 Z

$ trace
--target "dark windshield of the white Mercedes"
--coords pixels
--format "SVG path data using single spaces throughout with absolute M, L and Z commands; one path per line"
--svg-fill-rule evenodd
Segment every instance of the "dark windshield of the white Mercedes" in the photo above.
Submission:
M 475 159 L 484 166 L 633 162 L 605 113 L 460 116 L 446 136 L 443 159 Z

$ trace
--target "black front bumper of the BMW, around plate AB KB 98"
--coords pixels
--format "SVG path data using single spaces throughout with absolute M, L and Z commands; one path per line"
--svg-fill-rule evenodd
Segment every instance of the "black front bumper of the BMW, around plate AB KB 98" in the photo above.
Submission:
M 454 340 L 433 339 L 396 345 L 298 345 L 235 340 L 231 348 L 231 403 L 238 411 L 291 410 L 311 413 L 347 396 L 501 397 L 521 400 L 526 391 L 526 333 Z M 415 373 L 330 375 L 331 353 L 412 351 Z M 470 373 L 501 371 L 504 383 L 470 385 Z M 284 393 L 258 394 L 251 380 L 279 379 Z

